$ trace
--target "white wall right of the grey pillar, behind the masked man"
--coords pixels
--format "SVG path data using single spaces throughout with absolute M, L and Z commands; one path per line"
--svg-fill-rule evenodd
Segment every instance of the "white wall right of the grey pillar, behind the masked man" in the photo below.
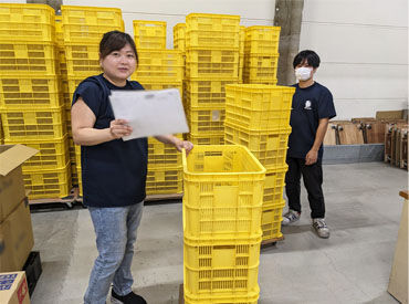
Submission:
M 407 108 L 407 0 L 305 0 L 300 49 L 319 54 L 335 119 Z

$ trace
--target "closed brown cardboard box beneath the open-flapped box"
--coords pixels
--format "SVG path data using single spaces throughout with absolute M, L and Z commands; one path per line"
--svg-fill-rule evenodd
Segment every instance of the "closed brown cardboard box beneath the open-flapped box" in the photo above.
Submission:
M 0 272 L 23 268 L 34 245 L 28 198 L 0 223 Z

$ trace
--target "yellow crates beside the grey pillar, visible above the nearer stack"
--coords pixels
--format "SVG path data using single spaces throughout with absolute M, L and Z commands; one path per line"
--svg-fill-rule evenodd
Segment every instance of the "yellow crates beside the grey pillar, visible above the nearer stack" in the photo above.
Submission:
M 245 28 L 244 83 L 276 84 L 280 27 Z

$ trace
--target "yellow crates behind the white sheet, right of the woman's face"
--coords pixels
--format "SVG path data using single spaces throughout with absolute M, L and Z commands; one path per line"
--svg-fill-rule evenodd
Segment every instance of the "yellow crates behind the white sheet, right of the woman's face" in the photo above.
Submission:
M 132 75 L 145 90 L 177 88 L 182 94 L 183 59 L 179 50 L 166 50 L 166 22 L 134 20 L 139 64 Z M 178 135 L 182 138 L 181 135 Z M 182 192 L 181 155 L 174 146 L 148 138 L 147 195 Z

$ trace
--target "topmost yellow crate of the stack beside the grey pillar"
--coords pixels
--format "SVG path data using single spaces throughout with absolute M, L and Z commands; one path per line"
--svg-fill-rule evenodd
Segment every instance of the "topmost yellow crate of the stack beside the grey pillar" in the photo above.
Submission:
M 250 54 L 279 53 L 280 27 L 245 28 L 244 52 Z

